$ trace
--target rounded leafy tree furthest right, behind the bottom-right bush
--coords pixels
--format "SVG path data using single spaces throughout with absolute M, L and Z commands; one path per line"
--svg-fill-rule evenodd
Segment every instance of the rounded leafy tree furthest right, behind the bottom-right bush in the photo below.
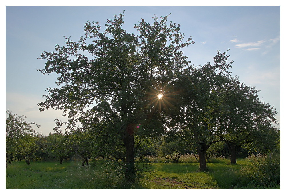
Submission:
M 274 149 L 278 139 L 277 129 L 272 125 L 277 124 L 275 108 L 259 100 L 259 91 L 238 78 L 230 78 L 226 88 L 221 96 L 228 112 L 218 121 L 218 135 L 229 148 L 231 164 L 236 164 L 239 147 L 256 151 Z

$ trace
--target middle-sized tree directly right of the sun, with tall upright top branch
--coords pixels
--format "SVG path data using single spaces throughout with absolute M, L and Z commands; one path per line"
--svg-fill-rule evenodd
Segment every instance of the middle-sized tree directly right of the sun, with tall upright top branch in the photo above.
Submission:
M 227 50 L 228 51 L 228 50 Z M 175 89 L 180 91 L 180 99 L 172 114 L 173 125 L 181 125 L 190 145 L 195 145 L 199 155 L 200 170 L 206 169 L 206 151 L 215 140 L 217 121 L 226 111 L 222 104 L 221 93 L 231 72 L 227 51 L 214 57 L 214 65 L 188 67 L 174 82 Z

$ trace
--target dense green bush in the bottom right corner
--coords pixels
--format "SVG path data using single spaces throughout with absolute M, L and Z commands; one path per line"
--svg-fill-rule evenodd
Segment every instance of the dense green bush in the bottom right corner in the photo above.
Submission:
M 240 170 L 239 187 L 280 188 L 280 155 L 251 155 L 250 165 Z

